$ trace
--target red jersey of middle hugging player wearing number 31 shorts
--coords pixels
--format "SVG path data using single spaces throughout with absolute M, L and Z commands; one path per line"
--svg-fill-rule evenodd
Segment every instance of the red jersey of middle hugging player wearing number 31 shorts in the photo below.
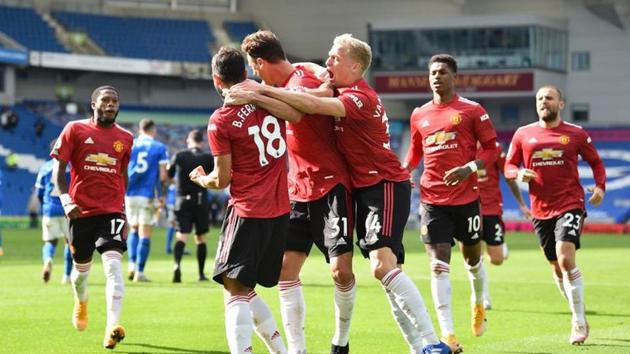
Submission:
M 313 74 L 298 65 L 283 86 L 317 88 L 320 84 Z M 291 200 L 320 199 L 339 183 L 351 188 L 346 161 L 335 143 L 332 117 L 306 115 L 299 123 L 287 122 L 287 148 Z

